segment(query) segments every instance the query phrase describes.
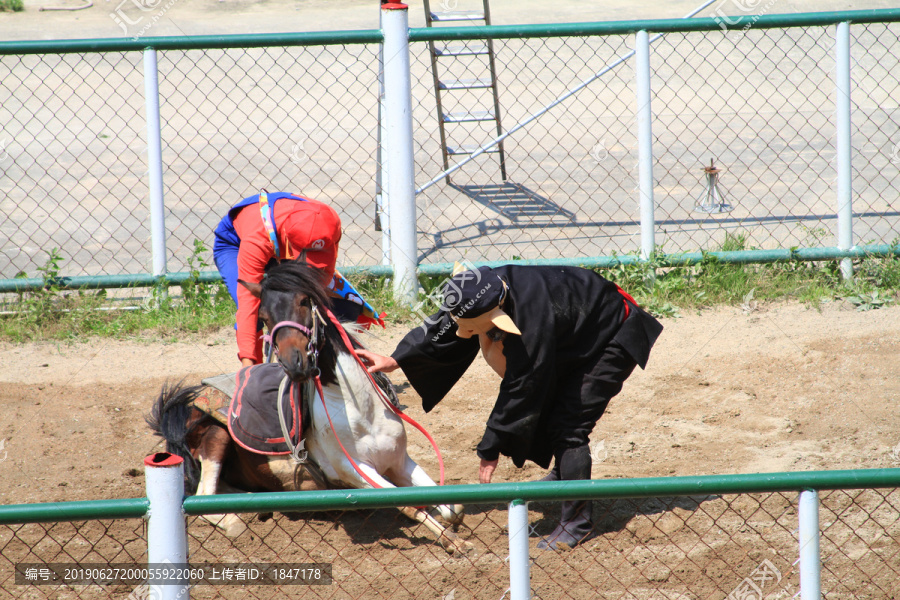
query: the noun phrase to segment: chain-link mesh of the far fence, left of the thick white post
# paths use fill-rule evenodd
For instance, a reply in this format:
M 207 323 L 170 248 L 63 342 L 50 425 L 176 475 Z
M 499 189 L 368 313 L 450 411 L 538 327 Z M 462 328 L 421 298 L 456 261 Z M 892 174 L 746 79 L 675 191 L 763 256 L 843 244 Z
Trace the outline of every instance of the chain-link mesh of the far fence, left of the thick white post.
M 211 250 L 219 219 L 261 187 L 335 203 L 342 259 L 369 260 L 377 47 L 159 56 L 170 270 L 194 239 Z M 54 247 L 65 275 L 149 272 L 141 54 L 5 56 L 0 69 L 0 277 L 33 276 Z

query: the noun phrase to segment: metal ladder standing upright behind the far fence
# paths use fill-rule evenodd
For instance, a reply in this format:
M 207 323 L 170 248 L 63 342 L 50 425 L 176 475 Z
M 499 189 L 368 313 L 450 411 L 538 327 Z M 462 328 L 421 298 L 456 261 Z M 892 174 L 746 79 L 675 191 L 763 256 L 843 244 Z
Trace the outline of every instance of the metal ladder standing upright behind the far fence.
M 457 10 L 458 1 L 441 0 L 439 6 L 442 10 L 432 12 L 429 0 L 424 0 L 426 25 L 434 27 L 435 24 L 459 24 L 460 22 L 473 25 L 491 24 L 488 0 L 482 0 L 481 10 Z M 472 123 L 494 121 L 497 135 L 503 134 L 503 128 L 500 125 L 500 99 L 497 93 L 494 46 L 492 40 L 484 40 L 484 42 L 466 40 L 462 45 L 452 45 L 452 43 L 448 42 L 429 42 L 428 46 L 431 54 L 434 97 L 437 103 L 437 117 L 441 132 L 441 153 L 443 155 L 444 170 L 446 171 L 450 168 L 449 158 L 451 156 L 472 154 L 486 141 L 478 139 L 478 137 L 482 136 L 476 136 L 477 131 L 472 131 Z M 461 65 L 465 71 L 478 70 L 479 68 L 481 71 L 484 71 L 486 69 L 488 76 L 461 79 L 453 79 L 449 76 L 441 77 L 440 72 L 451 70 L 450 61 L 465 61 L 465 64 Z M 459 71 L 460 69 L 456 70 Z M 479 92 L 479 90 L 483 91 Z M 488 90 L 490 94 L 487 93 Z M 465 94 L 465 96 L 461 97 L 460 93 Z M 446 100 L 450 99 L 449 96 L 457 96 L 450 102 L 454 107 L 462 104 L 463 98 L 473 104 L 478 104 L 455 112 L 445 112 L 444 106 L 448 104 Z M 466 124 L 469 124 L 468 129 L 465 128 Z M 448 144 L 448 129 L 459 130 L 460 126 L 462 126 L 462 133 L 453 135 L 451 138 L 453 140 L 452 143 Z M 498 156 L 500 160 L 500 176 L 506 181 L 506 154 L 503 150 L 503 142 L 487 150 L 485 154 L 496 154 Z M 451 183 L 449 175 L 445 179 L 447 184 Z

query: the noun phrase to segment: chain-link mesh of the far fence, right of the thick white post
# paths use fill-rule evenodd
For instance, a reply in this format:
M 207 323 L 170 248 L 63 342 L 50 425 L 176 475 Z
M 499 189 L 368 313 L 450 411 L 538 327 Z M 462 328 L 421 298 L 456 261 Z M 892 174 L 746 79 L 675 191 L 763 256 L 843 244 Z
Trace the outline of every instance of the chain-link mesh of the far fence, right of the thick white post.
M 900 28 L 851 26 L 853 211 L 856 240 L 900 235 Z M 509 129 L 615 64 L 634 36 L 494 41 Z M 798 27 L 665 34 L 651 44 L 656 243 L 668 252 L 715 250 L 730 232 L 749 247 L 836 245 L 835 29 Z M 425 71 L 427 53 L 416 51 Z M 472 62 L 459 77 L 485 76 Z M 418 80 L 417 158 L 440 173 L 429 81 Z M 462 108 L 478 101 L 463 96 Z M 446 97 L 446 95 L 445 95 Z M 509 179 L 484 154 L 419 199 L 428 261 L 610 256 L 640 248 L 633 59 L 505 140 Z M 480 103 L 483 105 L 484 100 Z M 460 135 L 477 145 L 489 126 Z M 417 138 L 418 140 L 418 138 Z M 463 140 L 459 140 L 462 142 Z M 704 167 L 723 172 L 732 210 L 697 210 Z

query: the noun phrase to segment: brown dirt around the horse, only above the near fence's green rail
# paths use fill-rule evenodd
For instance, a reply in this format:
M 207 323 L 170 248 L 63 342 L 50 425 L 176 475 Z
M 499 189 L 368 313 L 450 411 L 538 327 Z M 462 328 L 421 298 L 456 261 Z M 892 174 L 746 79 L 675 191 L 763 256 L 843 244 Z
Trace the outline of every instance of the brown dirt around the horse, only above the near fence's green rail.
M 595 478 L 900 465 L 900 307 L 791 303 L 664 323 L 647 370 L 592 435 Z M 404 332 L 367 341 L 387 352 Z M 5 344 L 0 356 L 2 504 L 142 496 L 132 472 L 159 449 L 143 417 L 162 383 L 237 367 L 227 329 L 172 343 Z M 402 375 L 393 379 L 439 442 L 448 482 L 477 481 L 473 449 L 496 375 L 479 359 L 428 415 Z M 411 433 L 410 444 L 413 458 L 434 464 L 423 438 Z M 501 461 L 496 481 L 539 474 Z

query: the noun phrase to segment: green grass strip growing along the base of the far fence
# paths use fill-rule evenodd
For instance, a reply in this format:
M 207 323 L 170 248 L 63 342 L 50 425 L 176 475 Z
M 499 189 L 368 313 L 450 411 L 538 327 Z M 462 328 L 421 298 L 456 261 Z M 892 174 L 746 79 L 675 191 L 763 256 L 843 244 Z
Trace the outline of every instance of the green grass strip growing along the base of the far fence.
M 746 235 L 730 234 L 719 249 L 746 250 L 746 243 Z M 200 281 L 200 273 L 210 267 L 203 259 L 206 252 L 202 242 L 194 242 L 188 259 L 191 277 L 181 286 L 180 296 L 158 289 L 131 290 L 127 294 L 131 298 L 141 293 L 147 297 L 123 301 L 111 298 L 105 290 L 61 290 L 58 280 L 63 258 L 53 249 L 38 268 L 41 289 L 18 294 L 4 306 L 0 339 L 76 341 L 101 336 L 170 340 L 230 326 L 235 307 L 224 284 Z M 661 253 L 634 265 L 598 269 L 652 314 L 662 317 L 722 305 L 747 309 L 783 299 L 816 308 L 824 301 L 840 299 L 860 310 L 873 310 L 900 299 L 900 259 L 865 258 L 854 261 L 854 271 L 853 280 L 847 283 L 841 277 L 839 261 L 744 265 L 723 263 L 711 254 L 705 254 L 699 264 L 673 267 Z M 372 306 L 387 313 L 389 322 L 415 326 L 437 311 L 445 277 L 420 277 L 422 293 L 415 307 L 397 301 L 389 278 L 357 275 L 350 279 Z

